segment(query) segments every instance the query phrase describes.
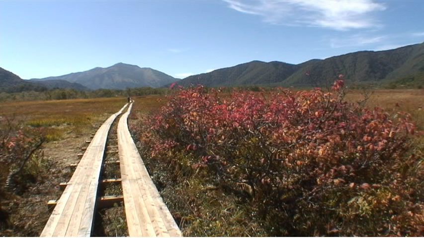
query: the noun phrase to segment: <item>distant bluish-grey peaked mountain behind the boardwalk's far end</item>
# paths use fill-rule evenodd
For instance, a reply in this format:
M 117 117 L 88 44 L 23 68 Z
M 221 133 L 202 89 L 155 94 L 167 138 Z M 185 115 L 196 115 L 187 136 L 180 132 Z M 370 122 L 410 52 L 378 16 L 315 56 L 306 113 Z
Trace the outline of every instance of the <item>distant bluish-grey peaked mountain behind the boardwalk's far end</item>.
M 66 80 L 79 83 L 89 89 L 125 89 L 136 87 L 157 88 L 177 79 L 152 68 L 117 63 L 110 67 L 96 67 L 87 71 L 70 73 L 57 77 L 34 78 L 31 81 Z

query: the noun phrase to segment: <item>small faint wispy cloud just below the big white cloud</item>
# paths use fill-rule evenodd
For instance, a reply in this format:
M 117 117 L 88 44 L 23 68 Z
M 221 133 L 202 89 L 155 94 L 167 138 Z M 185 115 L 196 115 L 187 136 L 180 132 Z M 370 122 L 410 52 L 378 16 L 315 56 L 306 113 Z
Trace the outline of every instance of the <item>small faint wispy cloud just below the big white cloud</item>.
M 385 39 L 387 39 L 387 36 L 365 36 L 357 34 L 343 38 L 332 38 L 330 39 L 330 46 L 331 48 L 357 47 L 380 43 Z

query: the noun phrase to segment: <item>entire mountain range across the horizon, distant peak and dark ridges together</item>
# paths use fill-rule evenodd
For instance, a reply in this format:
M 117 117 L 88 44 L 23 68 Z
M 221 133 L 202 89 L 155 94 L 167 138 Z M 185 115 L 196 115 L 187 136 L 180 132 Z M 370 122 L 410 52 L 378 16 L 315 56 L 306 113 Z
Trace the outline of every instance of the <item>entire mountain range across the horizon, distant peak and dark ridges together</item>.
M 346 84 L 399 84 L 424 86 L 424 43 L 386 51 L 360 51 L 325 60 L 308 60 L 299 64 L 280 61 L 251 61 L 216 69 L 209 73 L 177 79 L 152 68 L 117 63 L 57 77 L 22 80 L 0 68 L 0 91 L 44 91 L 49 88 L 125 89 L 166 87 L 172 82 L 188 86 L 294 86 L 328 85 L 344 75 Z M 34 84 L 35 83 L 35 84 Z

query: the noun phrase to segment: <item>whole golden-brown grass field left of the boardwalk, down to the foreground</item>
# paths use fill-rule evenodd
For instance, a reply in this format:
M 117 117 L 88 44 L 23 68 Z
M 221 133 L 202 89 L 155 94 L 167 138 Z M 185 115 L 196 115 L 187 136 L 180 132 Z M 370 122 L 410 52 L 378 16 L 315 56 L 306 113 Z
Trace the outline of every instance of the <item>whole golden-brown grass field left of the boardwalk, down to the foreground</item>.
M 8 169 L 0 169 L 0 236 L 41 234 L 51 213 L 46 202 L 58 199 L 58 184 L 72 176 L 73 169 L 68 165 L 78 162 L 77 154 L 85 147 L 85 140 L 125 103 L 126 98 L 103 98 L 0 104 L 1 123 L 8 119 L 22 126 L 42 128 L 47 137 L 43 158 L 27 163 L 39 170 L 38 177 L 21 194 L 4 192 Z

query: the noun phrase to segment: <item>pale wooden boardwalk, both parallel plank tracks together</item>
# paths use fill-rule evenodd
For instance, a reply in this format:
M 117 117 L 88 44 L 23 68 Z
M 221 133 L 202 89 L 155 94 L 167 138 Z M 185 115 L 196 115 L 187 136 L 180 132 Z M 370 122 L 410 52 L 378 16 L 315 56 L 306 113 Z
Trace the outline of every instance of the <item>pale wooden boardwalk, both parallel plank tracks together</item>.
M 150 178 L 128 130 L 132 103 L 110 116 L 97 130 L 47 221 L 41 237 L 89 237 L 98 202 L 98 186 L 107 136 L 118 123 L 118 148 L 128 232 L 131 237 L 180 237 L 181 232 Z

